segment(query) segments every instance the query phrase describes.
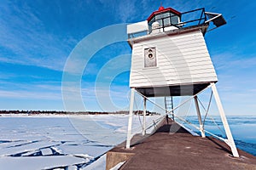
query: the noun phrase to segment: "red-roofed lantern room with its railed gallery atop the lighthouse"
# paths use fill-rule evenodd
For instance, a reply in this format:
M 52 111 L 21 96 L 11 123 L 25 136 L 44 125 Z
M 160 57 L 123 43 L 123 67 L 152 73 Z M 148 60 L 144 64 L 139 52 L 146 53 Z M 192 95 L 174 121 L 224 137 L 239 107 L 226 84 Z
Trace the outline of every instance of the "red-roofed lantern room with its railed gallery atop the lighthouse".
M 212 23 L 212 24 L 211 24 Z M 203 35 L 226 24 L 222 14 L 206 12 L 205 8 L 197 8 L 180 13 L 174 8 L 160 6 L 147 20 L 127 26 L 130 45 L 133 37 L 159 34 L 168 31 L 183 31 L 198 27 Z

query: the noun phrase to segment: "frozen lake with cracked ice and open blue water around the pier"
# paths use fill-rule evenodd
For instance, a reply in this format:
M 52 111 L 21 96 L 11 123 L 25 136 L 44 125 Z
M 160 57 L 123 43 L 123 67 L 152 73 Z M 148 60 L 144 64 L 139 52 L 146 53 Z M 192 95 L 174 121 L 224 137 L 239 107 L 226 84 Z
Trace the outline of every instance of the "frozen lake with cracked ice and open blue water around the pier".
M 187 118 L 196 123 L 195 116 Z M 152 122 L 156 116 L 147 119 Z M 255 156 L 256 116 L 229 116 L 228 120 L 237 146 Z M 0 167 L 104 169 L 103 154 L 125 140 L 127 121 L 125 115 L 0 116 Z M 141 122 L 142 117 L 134 116 L 133 133 L 141 130 Z M 221 124 L 218 119 L 217 123 Z M 206 127 L 223 135 L 210 122 Z

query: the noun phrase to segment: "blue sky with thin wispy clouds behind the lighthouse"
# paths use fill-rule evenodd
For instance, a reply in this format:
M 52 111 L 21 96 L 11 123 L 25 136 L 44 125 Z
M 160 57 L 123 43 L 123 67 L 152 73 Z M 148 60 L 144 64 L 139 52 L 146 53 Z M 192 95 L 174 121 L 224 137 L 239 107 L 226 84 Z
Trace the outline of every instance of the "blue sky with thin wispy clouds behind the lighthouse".
M 146 20 L 160 2 L 180 12 L 204 7 L 224 15 L 228 24 L 205 37 L 218 74 L 218 91 L 228 115 L 255 114 L 256 2 L 237 0 L 1 0 L 0 110 L 67 109 L 62 101 L 61 81 L 67 59 L 79 42 L 105 26 Z M 114 42 L 91 56 L 80 80 L 87 111 L 122 110 L 128 106 L 130 59 L 131 49 L 126 42 Z M 102 74 L 108 67 L 119 73 L 110 77 L 110 88 L 103 81 L 107 75 Z M 107 99 L 115 109 L 108 108 Z

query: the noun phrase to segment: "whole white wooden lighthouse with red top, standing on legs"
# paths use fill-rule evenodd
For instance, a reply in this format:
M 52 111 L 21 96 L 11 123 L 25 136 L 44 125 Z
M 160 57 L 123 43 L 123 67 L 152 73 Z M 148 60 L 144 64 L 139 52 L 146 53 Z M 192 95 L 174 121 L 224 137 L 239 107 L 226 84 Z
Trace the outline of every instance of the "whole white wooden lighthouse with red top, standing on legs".
M 198 17 L 189 18 L 189 14 Z M 127 26 L 132 58 L 126 148 L 131 145 L 135 92 L 144 98 L 144 115 L 150 97 L 191 96 L 195 100 L 201 136 L 205 137 L 197 95 L 212 88 L 227 135 L 224 141 L 230 145 L 233 156 L 239 156 L 215 86 L 218 78 L 204 39 L 207 31 L 225 23 L 221 14 L 205 12 L 204 8 L 180 13 L 173 8 L 160 7 L 148 20 Z

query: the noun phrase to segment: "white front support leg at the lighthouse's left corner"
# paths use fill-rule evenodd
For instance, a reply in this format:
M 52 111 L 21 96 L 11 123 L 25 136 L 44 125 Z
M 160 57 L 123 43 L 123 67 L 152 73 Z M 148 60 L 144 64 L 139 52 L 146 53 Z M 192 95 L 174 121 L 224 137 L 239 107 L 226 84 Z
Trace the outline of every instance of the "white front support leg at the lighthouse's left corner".
M 131 88 L 130 111 L 129 111 L 129 122 L 128 122 L 128 130 L 127 130 L 127 139 L 126 139 L 126 149 L 129 149 L 130 145 L 131 145 L 131 125 L 132 125 L 132 112 L 133 112 L 133 103 L 134 103 L 134 93 L 135 93 L 135 88 Z

